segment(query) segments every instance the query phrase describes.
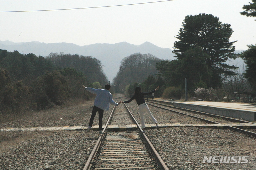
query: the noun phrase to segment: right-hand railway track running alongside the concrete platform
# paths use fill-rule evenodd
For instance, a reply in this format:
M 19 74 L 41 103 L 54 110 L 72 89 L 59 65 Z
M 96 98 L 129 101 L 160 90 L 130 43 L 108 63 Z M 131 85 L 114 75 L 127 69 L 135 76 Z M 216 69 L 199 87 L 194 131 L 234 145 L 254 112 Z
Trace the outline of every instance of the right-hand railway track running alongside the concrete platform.
M 147 103 L 151 106 L 154 106 L 154 107 L 158 107 L 158 108 L 165 109 L 165 110 L 168 110 L 168 111 L 172 111 L 172 112 L 180 113 L 180 114 L 187 115 L 187 116 L 190 116 L 190 117 L 193 117 L 193 118 L 197 118 L 197 119 L 200 119 L 200 120 L 204 120 L 208 123 L 222 124 L 222 123 L 232 122 L 232 123 L 251 123 L 251 124 L 256 125 L 256 123 L 252 123 L 252 122 L 245 121 L 245 120 L 234 119 L 234 118 L 224 117 L 224 116 L 210 114 L 210 113 L 192 111 L 190 109 L 178 108 L 178 107 L 170 106 L 170 105 L 167 105 L 167 104 L 162 104 L 162 103 L 159 103 L 159 102 L 148 101 Z M 153 104 L 150 104 L 150 103 L 153 103 Z M 235 131 L 241 131 L 241 132 L 244 132 L 246 134 L 249 134 L 249 135 L 252 135 L 252 136 L 256 137 L 256 130 L 255 129 L 246 129 L 245 130 L 245 129 L 240 129 L 240 128 L 236 128 L 236 127 L 233 127 L 233 126 L 226 126 L 226 127 L 229 128 L 229 129 L 232 129 L 232 130 L 235 130 Z

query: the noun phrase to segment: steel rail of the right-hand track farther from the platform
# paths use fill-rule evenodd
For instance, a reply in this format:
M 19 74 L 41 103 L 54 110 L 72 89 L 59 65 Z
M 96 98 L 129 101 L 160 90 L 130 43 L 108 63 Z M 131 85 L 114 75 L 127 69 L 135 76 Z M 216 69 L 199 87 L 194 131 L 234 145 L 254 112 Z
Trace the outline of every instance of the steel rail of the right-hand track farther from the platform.
M 149 104 L 149 103 L 148 103 Z M 158 103 L 157 103 L 158 104 Z M 165 110 L 168 110 L 168 111 L 172 111 L 172 112 L 176 112 L 176 113 L 180 113 L 180 114 L 183 114 L 183 115 L 188 115 L 188 116 L 191 116 L 191 117 L 194 117 L 194 118 L 198 118 L 198 119 L 201 119 L 201 120 L 205 120 L 205 121 L 209 121 L 209 122 L 214 122 L 214 121 L 210 121 L 210 120 L 207 120 L 207 119 L 203 119 L 203 118 L 199 118 L 199 117 L 196 117 L 196 116 L 193 116 L 193 115 L 190 115 L 190 114 L 186 114 L 186 113 L 181 113 L 181 112 L 177 112 L 177 111 L 173 111 L 171 109 L 167 109 L 167 108 L 163 108 L 163 107 L 160 107 L 160 106 L 155 106 L 154 104 L 149 104 L 151 106 L 154 106 L 154 107 L 158 107 L 158 108 L 161 108 L 161 109 L 165 109 Z M 180 109 L 180 108 L 177 108 L 177 109 Z M 183 108 L 181 110 L 184 110 Z M 193 111 L 193 112 L 197 112 L 197 111 Z M 203 113 L 203 112 L 202 112 Z M 251 122 L 247 122 L 247 123 L 251 123 Z M 223 125 L 221 123 L 217 123 L 217 122 L 214 122 L 214 124 L 220 124 L 220 125 Z M 254 123 L 253 123 L 254 124 Z M 235 130 L 235 131 L 240 131 L 240 132 L 244 132 L 246 134 L 249 134 L 249 135 L 252 135 L 254 137 L 256 137 L 256 133 L 254 132 L 250 132 L 250 131 L 247 131 L 247 130 L 244 130 L 244 129 L 239 129 L 239 128 L 235 128 L 233 126 L 225 126 L 229 129 L 232 129 L 232 130 Z

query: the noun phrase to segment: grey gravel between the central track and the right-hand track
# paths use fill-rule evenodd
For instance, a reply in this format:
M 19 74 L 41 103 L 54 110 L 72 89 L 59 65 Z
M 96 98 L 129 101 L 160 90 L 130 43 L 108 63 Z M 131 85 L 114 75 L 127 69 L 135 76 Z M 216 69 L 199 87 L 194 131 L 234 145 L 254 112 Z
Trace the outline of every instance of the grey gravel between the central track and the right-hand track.
M 135 101 L 127 104 L 134 117 L 140 122 L 138 105 Z M 176 114 L 149 106 L 159 123 L 203 124 L 202 120 Z M 144 115 L 145 123 L 151 119 Z M 146 130 L 146 135 L 171 170 L 255 170 L 256 138 L 229 129 L 172 127 L 160 130 Z M 203 163 L 204 157 L 230 157 L 229 163 Z M 244 157 L 248 163 L 239 157 Z M 231 160 L 231 157 L 235 157 Z M 236 162 L 237 163 L 231 163 Z

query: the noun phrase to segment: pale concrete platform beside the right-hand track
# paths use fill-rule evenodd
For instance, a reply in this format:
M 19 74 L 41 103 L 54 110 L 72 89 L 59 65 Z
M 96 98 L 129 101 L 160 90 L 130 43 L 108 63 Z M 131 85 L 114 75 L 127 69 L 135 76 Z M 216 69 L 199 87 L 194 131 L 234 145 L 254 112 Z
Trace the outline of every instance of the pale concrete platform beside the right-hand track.
M 225 117 L 239 118 L 247 121 L 256 121 L 255 104 L 196 101 L 172 102 L 172 105 L 175 107 L 222 115 Z

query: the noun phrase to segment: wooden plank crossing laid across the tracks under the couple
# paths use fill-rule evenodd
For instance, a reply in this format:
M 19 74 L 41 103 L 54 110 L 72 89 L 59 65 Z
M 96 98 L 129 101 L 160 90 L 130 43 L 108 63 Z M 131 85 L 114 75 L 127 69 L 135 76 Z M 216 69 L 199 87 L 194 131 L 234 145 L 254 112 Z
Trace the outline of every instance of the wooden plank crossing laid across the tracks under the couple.
M 165 124 L 158 124 L 159 128 L 168 128 L 168 127 L 179 127 L 179 126 L 190 126 L 190 127 L 208 127 L 208 128 L 223 128 L 225 126 L 233 126 L 236 128 L 243 128 L 243 129 L 256 129 L 256 124 L 253 123 L 223 123 L 223 124 L 180 124 L 180 123 L 165 123 Z M 146 129 L 155 129 L 156 125 L 155 124 L 145 124 Z M 11 131 L 53 131 L 53 130 L 86 130 L 88 126 L 55 126 L 55 127 L 33 127 L 33 128 L 2 128 L 0 131 L 5 131 L 5 132 L 11 132 Z M 92 126 L 92 130 L 97 131 L 99 128 L 98 125 Z M 105 128 L 103 125 L 102 128 Z M 131 131 L 131 130 L 137 130 L 137 126 L 132 124 L 132 125 L 108 125 L 107 129 L 109 131 Z

